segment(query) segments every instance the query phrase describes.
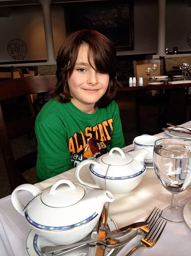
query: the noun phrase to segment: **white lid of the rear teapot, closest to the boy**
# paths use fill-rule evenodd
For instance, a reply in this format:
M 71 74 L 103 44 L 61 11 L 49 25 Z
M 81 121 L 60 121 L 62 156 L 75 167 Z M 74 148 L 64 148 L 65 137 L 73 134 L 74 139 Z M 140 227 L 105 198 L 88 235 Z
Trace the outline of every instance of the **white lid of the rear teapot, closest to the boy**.
M 113 152 L 115 151 L 115 152 Z M 117 152 L 118 151 L 118 152 Z M 124 154 L 120 148 L 113 148 L 109 153 L 102 156 L 102 162 L 111 165 L 125 165 L 133 161 L 133 156 L 130 154 Z

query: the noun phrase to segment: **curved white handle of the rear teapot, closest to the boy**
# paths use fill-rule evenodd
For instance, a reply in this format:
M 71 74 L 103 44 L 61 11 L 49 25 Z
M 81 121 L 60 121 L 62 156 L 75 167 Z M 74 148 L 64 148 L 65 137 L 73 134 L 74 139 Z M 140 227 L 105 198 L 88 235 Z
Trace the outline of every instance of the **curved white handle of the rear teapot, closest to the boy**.
M 84 160 L 82 162 L 80 162 L 77 167 L 76 167 L 76 179 L 84 185 L 87 185 L 89 187 L 93 187 L 93 188 L 100 188 L 100 186 L 98 185 L 98 183 L 89 183 L 89 182 L 85 182 L 83 180 L 81 180 L 79 172 L 81 170 L 81 168 L 86 165 L 86 164 L 93 164 L 95 167 L 100 167 L 100 164 L 92 159 L 89 160 Z

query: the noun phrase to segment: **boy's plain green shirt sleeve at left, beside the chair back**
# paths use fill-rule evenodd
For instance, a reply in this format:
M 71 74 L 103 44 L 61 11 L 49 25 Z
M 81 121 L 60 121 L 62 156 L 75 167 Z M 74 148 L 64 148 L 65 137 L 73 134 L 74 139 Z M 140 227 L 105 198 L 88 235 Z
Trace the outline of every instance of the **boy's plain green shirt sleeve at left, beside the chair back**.
M 60 129 L 40 121 L 35 124 L 35 133 L 38 142 L 37 182 L 73 168 L 64 126 Z

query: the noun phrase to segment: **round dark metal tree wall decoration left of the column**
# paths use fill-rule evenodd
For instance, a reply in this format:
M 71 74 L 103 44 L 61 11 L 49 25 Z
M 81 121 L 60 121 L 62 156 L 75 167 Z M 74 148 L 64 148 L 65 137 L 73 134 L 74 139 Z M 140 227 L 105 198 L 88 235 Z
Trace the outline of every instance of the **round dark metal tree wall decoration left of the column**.
M 14 61 L 23 60 L 27 54 L 27 47 L 21 39 L 15 38 L 8 43 L 7 51 Z

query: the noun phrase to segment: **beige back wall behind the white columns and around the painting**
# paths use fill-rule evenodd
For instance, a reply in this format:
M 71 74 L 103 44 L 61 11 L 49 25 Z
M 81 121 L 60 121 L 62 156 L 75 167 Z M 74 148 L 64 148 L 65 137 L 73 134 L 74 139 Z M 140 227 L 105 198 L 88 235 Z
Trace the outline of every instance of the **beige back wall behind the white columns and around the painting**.
M 158 1 L 134 0 L 134 50 L 118 55 L 157 52 Z M 2 7 L 0 7 L 2 8 Z M 55 56 L 66 38 L 64 5 L 51 5 Z M 182 0 L 167 0 L 166 46 L 172 51 L 190 51 L 187 35 L 191 31 L 191 7 Z M 0 62 L 13 61 L 7 53 L 7 44 L 13 38 L 23 40 L 28 48 L 24 60 L 46 60 L 46 43 L 41 5 L 17 6 L 9 17 L 0 17 Z

